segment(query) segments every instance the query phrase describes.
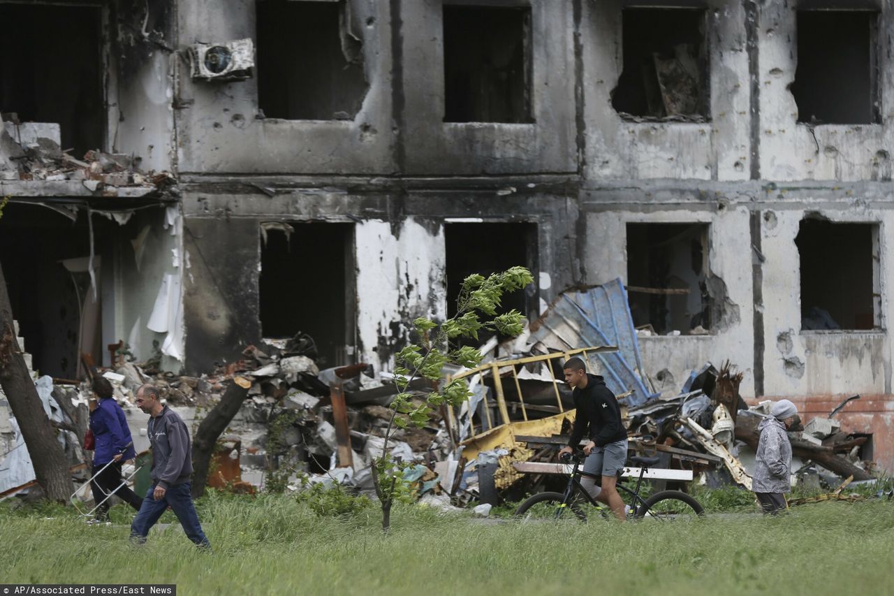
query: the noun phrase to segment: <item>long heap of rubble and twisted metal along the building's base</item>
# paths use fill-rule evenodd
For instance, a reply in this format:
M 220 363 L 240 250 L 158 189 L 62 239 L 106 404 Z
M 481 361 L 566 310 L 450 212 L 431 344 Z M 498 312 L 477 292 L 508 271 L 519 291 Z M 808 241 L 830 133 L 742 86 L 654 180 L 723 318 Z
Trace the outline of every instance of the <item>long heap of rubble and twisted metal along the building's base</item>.
M 157 370 L 153 361 L 142 366 L 115 362 L 100 374 L 113 382 L 135 442 L 138 434 L 145 435 L 139 432 L 145 415 L 134 399 L 144 383 L 155 385 L 167 404 L 179 408 L 193 433 L 229 387 L 246 390 L 239 413 L 218 440 L 209 486 L 254 490 L 250 483 L 262 490 L 301 490 L 308 482 L 337 481 L 372 493 L 370 466 L 391 433 L 389 451 L 408 465 L 405 475 L 417 483 L 418 496 L 446 508 L 518 500 L 558 478 L 555 474 L 562 471 L 556 452 L 567 444 L 575 414 L 562 364 L 580 355 L 619 397 L 630 456 L 657 455 L 657 468 L 691 471 L 689 478 L 701 476 L 711 486 L 736 483 L 750 490 L 757 424 L 770 413 L 772 402 L 746 404 L 738 392 L 743 375 L 729 362 L 720 370 L 710 362 L 694 370 L 677 395 L 655 392 L 643 374 L 623 292 L 616 280 L 562 294 L 519 337 L 502 344 L 496 337 L 488 340 L 479 349 L 480 366 L 448 371 L 448 380 L 468 383 L 468 402 L 453 412 L 443 408 L 434 413 L 421 429 L 392 426 L 388 405 L 398 390 L 391 374 L 376 377 L 363 363 L 319 370 L 314 340 L 300 333 L 249 345 L 240 359 L 200 377 Z M 599 316 L 586 319 L 587 311 Z M 430 390 L 425 379 L 408 389 L 419 404 Z M 74 389 L 57 385 L 53 396 L 74 420 L 78 416 L 72 408 L 82 406 L 86 412 L 89 384 Z M 790 429 L 799 481 L 832 490 L 844 479 L 873 479 L 873 463 L 860 457 L 867 437 L 842 432 L 835 418 L 858 398 L 849 397 L 828 418 L 805 425 L 797 421 Z M 52 410 L 53 403 L 47 403 Z M 82 427 L 85 418 L 80 419 Z M 77 439 L 66 447 L 75 461 L 80 435 Z M 139 440 L 147 445 L 145 436 Z M 681 480 L 679 474 L 666 474 L 659 482 L 665 481 Z

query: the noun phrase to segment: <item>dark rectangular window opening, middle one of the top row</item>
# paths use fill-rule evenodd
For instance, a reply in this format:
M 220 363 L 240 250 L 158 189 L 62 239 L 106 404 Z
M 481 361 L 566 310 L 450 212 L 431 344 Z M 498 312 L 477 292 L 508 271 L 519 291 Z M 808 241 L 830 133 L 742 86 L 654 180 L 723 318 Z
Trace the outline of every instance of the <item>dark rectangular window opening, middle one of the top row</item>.
M 530 123 L 529 7 L 443 7 L 444 122 Z

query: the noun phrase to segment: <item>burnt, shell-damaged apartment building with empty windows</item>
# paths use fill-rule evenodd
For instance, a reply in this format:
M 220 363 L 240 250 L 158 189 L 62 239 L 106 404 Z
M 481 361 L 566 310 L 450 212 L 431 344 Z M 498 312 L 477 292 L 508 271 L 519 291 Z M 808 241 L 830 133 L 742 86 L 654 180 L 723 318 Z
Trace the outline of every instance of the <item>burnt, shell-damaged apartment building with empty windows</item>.
M 389 370 L 463 277 L 525 265 L 531 320 L 625 280 L 655 387 L 729 359 L 742 396 L 805 420 L 861 394 L 842 429 L 894 469 L 889 1 L 38 0 L 0 20 L 0 263 L 34 369 L 126 352 L 198 374 L 300 331 L 320 368 Z

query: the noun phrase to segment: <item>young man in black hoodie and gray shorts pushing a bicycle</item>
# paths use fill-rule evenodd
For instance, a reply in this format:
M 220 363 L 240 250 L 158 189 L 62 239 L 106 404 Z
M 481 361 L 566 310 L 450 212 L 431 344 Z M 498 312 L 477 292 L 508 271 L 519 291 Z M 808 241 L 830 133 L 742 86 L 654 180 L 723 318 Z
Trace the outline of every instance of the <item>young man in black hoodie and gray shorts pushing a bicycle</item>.
M 618 472 L 627 462 L 627 430 L 620 420 L 618 400 L 605 386 L 605 379 L 588 374 L 586 364 L 577 356 L 569 358 L 562 368 L 565 382 L 574 388 L 571 396 L 578 412 L 568 446 L 561 448 L 559 456 L 572 453 L 586 433 L 590 440 L 584 447 L 584 473 L 592 475 L 585 476 L 580 484 L 591 497 L 611 507 L 614 515 L 624 520 L 624 501 L 615 485 Z M 603 477 L 602 490 L 595 485 L 597 474 Z

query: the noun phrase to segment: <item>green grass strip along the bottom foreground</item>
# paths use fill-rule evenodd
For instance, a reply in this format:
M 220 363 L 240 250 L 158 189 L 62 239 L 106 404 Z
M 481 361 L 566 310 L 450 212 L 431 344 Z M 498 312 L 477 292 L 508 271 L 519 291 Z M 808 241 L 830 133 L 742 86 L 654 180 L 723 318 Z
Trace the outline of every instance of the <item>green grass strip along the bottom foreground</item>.
M 295 498 L 212 495 L 199 515 L 213 554 L 176 525 L 138 548 L 126 525 L 4 504 L 3 581 L 176 583 L 179 594 L 815 596 L 891 593 L 894 564 L 894 503 L 877 499 L 681 524 L 488 523 L 397 506 L 388 536 L 375 506 L 321 517 Z

